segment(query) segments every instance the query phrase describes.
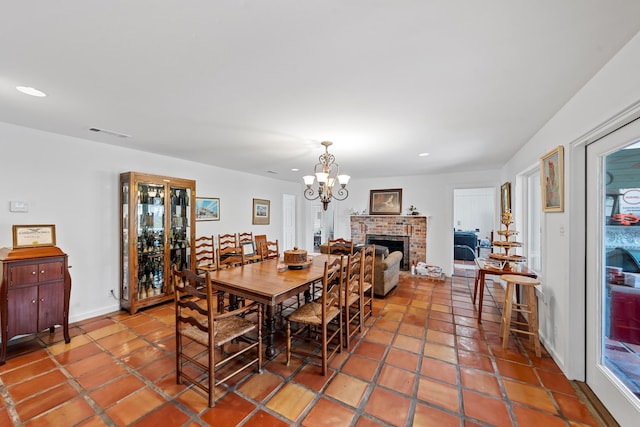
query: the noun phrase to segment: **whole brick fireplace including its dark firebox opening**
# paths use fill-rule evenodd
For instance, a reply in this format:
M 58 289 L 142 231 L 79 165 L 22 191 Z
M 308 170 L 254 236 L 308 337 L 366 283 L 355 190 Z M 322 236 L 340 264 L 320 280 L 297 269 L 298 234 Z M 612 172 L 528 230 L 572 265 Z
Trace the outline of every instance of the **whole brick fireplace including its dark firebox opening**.
M 427 259 L 427 217 L 412 215 L 352 215 L 351 240 L 354 244 L 375 243 L 403 253 L 403 270 L 411 262 Z

